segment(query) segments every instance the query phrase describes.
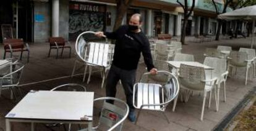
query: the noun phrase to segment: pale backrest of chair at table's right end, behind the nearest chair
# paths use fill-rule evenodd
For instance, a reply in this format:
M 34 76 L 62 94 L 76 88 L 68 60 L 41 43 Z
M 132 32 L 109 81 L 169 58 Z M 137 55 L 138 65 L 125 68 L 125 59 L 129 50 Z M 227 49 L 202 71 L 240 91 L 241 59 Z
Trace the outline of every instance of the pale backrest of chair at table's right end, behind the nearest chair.
M 226 60 L 224 58 L 205 57 L 203 65 L 207 65 L 213 68 L 208 72 L 207 70 L 205 71 L 205 74 L 210 76 L 209 78 L 221 77 L 221 74 L 226 71 Z

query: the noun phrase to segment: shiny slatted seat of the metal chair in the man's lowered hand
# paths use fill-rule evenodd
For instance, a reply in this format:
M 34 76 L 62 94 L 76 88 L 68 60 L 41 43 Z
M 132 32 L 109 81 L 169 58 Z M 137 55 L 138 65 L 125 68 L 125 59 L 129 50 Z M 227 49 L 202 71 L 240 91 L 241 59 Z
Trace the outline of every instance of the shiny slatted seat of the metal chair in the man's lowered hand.
M 159 104 L 160 103 L 160 84 L 139 83 L 137 90 L 137 108 L 143 104 Z M 161 110 L 160 106 L 143 106 L 142 109 Z

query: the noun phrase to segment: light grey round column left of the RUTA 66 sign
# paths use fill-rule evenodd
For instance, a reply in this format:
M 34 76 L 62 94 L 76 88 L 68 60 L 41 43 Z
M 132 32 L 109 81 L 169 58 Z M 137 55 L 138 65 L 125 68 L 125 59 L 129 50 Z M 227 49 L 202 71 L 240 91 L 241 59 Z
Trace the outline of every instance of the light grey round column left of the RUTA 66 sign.
M 51 36 L 59 36 L 59 0 L 53 0 L 52 18 L 51 18 Z

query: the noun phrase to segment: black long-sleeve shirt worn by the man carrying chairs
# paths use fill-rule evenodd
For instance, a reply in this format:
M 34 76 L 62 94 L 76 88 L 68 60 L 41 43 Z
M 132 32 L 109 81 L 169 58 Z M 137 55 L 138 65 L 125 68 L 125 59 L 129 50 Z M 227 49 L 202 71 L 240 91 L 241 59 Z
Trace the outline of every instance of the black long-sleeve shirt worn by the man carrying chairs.
M 142 31 L 134 33 L 128 30 L 127 25 L 123 25 L 112 33 L 105 32 L 104 34 L 109 39 L 116 39 L 114 66 L 126 70 L 137 69 L 140 53 L 142 52 L 148 71 L 154 68 L 150 44 Z

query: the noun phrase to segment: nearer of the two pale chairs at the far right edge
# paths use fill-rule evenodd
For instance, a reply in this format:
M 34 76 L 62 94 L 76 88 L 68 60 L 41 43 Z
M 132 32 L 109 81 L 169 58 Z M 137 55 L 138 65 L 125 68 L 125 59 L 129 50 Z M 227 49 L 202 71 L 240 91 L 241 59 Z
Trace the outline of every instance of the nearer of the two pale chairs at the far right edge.
M 247 76 L 248 76 L 248 70 L 252 68 L 252 62 L 254 61 L 248 59 L 248 55 L 246 52 L 237 52 L 237 51 L 231 51 L 229 55 L 229 69 L 231 69 L 230 73 L 232 74 L 233 68 L 241 68 L 246 67 L 246 73 L 245 73 L 245 85 L 247 85 Z M 253 76 L 251 69 L 251 77 Z

